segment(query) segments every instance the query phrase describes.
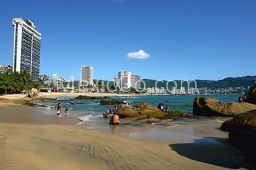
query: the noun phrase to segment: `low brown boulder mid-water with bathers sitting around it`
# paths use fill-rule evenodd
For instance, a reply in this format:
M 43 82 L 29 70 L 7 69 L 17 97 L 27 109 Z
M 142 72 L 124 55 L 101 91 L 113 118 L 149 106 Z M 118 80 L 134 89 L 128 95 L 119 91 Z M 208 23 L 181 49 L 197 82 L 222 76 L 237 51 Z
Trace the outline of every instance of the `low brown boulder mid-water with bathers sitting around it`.
M 165 117 L 166 114 L 158 109 L 154 105 L 149 105 L 147 103 L 140 103 L 138 106 L 131 105 L 118 105 L 116 113 L 120 117 Z

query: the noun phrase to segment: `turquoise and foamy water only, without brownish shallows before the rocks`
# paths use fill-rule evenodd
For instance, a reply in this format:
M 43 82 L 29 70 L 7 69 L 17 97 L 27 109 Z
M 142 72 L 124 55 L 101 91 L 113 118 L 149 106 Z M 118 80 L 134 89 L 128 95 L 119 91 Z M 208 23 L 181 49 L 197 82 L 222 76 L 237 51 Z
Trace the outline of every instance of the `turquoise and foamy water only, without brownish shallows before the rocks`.
M 168 105 L 170 109 L 178 109 L 186 113 L 192 113 L 192 105 L 195 97 L 214 97 L 219 101 L 231 102 L 237 101 L 239 94 L 230 95 L 189 95 L 189 96 L 132 96 L 132 97 L 112 97 L 121 101 L 130 102 L 131 105 L 138 105 L 146 102 L 157 106 L 159 103 Z M 47 114 L 56 114 L 54 106 L 61 102 L 63 108 L 66 103 L 69 107 L 70 117 L 84 117 L 85 121 L 98 121 L 102 119 L 102 113 L 107 108 L 114 109 L 114 105 L 100 105 L 100 100 L 75 100 L 74 97 L 60 97 L 58 101 L 38 101 L 42 105 L 46 105 Z M 64 114 L 64 109 L 62 111 Z

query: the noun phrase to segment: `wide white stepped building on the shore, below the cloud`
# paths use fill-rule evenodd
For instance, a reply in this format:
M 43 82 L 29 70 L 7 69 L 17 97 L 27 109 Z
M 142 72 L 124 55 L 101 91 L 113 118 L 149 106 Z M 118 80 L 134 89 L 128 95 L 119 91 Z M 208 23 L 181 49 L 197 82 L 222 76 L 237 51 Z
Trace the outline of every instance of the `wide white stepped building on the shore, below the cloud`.
M 118 77 L 115 78 L 116 85 L 120 89 L 129 89 L 133 87 L 135 89 L 141 88 L 141 77 L 139 75 L 132 74 L 131 72 L 120 71 Z

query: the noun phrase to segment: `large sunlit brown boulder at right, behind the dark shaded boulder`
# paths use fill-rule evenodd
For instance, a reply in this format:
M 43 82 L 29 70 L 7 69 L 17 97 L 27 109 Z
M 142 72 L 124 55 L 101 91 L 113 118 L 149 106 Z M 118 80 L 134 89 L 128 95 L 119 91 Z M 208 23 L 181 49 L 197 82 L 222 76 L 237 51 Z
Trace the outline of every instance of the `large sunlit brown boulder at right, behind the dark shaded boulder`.
M 256 105 L 246 102 L 220 102 L 210 97 L 196 97 L 193 104 L 193 114 L 209 117 L 234 117 L 256 109 Z

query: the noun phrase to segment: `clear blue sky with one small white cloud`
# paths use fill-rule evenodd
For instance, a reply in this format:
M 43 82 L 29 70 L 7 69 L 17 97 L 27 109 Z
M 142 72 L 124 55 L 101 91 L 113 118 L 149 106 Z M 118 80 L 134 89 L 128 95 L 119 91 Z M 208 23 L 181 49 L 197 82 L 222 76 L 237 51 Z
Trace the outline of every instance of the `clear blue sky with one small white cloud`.
M 2 0 L 0 65 L 12 65 L 13 18 L 42 34 L 40 74 L 111 80 L 126 70 L 157 80 L 256 75 L 254 0 Z

